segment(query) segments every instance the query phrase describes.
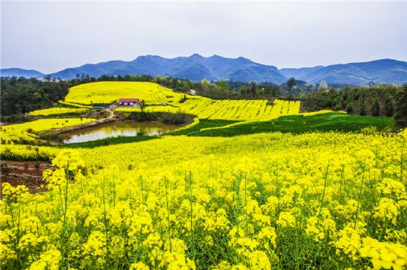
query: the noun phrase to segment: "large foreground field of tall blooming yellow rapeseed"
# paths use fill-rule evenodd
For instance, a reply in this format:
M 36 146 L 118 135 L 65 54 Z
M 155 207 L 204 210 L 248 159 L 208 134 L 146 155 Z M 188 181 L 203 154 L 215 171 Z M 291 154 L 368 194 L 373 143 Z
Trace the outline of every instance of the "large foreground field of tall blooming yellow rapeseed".
M 2 269 L 405 269 L 406 138 L 166 136 L 2 185 Z M 4 149 L 2 149 L 4 152 Z

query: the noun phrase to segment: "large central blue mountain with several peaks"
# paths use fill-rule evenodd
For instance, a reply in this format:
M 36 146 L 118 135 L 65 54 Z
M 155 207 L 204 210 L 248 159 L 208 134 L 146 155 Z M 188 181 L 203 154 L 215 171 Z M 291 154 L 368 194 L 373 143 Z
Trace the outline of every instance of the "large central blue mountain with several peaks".
M 64 80 L 76 78 L 76 74 L 87 74 L 92 77 L 105 75 L 147 74 L 151 76 L 171 76 L 189 80 L 234 80 L 244 82 L 283 83 L 286 77 L 275 66 L 255 63 L 249 59 L 236 59 L 213 55 L 202 57 L 194 54 L 189 57 L 172 59 L 156 55 L 140 56 L 131 62 L 109 61 L 98 64 L 86 64 L 72 69 L 52 73 L 54 78 Z

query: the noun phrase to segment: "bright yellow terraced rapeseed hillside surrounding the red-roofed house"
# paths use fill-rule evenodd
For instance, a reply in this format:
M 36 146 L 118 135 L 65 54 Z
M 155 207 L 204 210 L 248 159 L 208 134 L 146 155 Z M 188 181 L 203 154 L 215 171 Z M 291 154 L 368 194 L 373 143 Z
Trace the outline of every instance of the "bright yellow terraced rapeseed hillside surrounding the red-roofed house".
M 81 104 L 110 104 L 120 98 L 144 100 L 145 112 L 190 113 L 209 120 L 270 120 L 300 112 L 300 101 L 267 100 L 213 100 L 206 97 L 173 92 L 156 83 L 98 82 L 72 87 L 66 101 Z M 163 106 L 163 104 L 165 104 Z M 116 112 L 140 111 L 140 108 L 118 108 Z

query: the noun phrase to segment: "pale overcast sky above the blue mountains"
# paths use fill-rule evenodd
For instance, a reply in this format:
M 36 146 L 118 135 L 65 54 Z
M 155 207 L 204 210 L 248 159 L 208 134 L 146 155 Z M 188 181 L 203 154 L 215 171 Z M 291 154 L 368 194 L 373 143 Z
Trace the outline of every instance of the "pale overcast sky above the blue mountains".
M 1 1 L 1 67 L 195 52 L 279 68 L 407 61 L 406 11 L 407 1 Z

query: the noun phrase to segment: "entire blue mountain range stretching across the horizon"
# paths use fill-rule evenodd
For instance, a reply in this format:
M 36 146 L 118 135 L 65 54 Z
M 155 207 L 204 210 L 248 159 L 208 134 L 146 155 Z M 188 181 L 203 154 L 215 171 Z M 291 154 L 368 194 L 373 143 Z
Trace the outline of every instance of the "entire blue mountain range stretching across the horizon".
M 1 76 L 23 76 L 39 78 L 44 76 L 39 71 L 25 69 L 1 69 Z M 100 77 L 102 75 L 133 75 L 148 74 L 151 76 L 172 76 L 174 78 L 188 78 L 189 80 L 233 80 L 251 82 L 283 83 L 294 77 L 308 83 L 326 81 L 330 84 L 366 85 L 375 83 L 407 83 L 407 62 L 393 59 L 380 59 L 372 62 L 334 64 L 331 66 L 314 66 L 300 69 L 277 69 L 275 66 L 258 64 L 250 59 L 239 57 L 236 59 L 213 55 L 202 57 L 175 57 L 172 59 L 156 55 L 140 56 L 133 61 L 109 61 L 98 64 L 85 64 L 56 73 L 48 74 L 53 78 L 69 80 L 88 75 Z

